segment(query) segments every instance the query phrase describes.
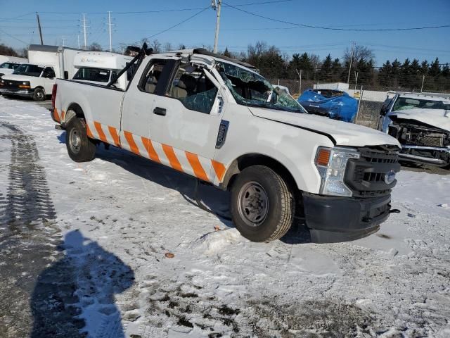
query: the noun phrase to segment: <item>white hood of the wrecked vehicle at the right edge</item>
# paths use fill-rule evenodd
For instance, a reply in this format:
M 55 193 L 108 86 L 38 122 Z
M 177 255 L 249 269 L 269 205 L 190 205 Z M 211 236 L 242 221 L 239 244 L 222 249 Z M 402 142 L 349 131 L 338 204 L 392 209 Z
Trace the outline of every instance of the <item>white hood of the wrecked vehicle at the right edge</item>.
M 450 132 L 450 111 L 444 109 L 406 109 L 404 111 L 391 111 L 388 114 L 388 116 L 392 115 L 397 115 L 397 118 L 404 120 L 416 120 Z

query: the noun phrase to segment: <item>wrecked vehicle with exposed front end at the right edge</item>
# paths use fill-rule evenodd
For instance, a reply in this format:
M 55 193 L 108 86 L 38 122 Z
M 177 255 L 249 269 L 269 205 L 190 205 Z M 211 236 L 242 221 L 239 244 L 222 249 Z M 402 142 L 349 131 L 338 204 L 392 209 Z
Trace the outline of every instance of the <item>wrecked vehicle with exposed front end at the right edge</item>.
M 450 168 L 450 94 L 397 93 L 380 118 L 401 144 L 401 161 Z

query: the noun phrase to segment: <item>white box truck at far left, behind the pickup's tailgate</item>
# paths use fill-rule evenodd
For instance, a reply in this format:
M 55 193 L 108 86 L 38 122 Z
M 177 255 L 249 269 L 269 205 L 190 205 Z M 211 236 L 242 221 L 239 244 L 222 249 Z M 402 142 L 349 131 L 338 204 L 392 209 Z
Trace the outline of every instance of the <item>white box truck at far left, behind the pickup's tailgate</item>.
M 11 75 L 1 77 L 0 93 L 43 101 L 51 94 L 57 77 L 70 79 L 75 75 L 73 61 L 79 51 L 63 46 L 30 45 L 29 63 L 23 63 Z

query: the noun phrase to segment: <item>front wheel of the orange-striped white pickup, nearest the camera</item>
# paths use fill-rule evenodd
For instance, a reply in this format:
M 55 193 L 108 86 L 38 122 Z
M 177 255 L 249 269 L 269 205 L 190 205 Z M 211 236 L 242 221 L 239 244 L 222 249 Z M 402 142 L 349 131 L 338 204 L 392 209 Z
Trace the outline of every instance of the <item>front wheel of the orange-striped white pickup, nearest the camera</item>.
M 293 223 L 295 200 L 285 181 L 268 167 L 245 168 L 231 188 L 231 216 L 236 229 L 252 242 L 283 237 Z

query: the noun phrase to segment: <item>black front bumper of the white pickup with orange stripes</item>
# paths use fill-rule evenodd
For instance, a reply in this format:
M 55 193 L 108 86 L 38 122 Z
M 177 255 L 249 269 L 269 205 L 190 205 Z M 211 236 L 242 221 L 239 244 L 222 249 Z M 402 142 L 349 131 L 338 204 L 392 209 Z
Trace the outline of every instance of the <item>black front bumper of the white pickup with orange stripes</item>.
M 348 242 L 377 232 L 390 215 L 390 201 L 390 194 L 368 199 L 304 194 L 311 241 Z

